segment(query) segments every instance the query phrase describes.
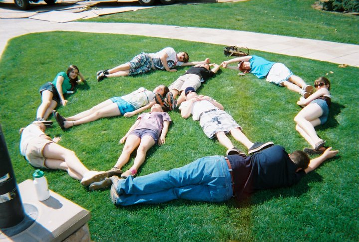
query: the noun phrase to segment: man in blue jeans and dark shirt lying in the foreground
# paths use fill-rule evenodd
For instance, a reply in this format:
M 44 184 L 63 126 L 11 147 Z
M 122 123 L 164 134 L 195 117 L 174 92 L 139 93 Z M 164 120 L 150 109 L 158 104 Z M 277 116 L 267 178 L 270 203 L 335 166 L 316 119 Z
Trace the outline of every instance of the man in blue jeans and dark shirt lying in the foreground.
M 180 168 L 136 178 L 112 176 L 111 199 L 122 206 L 174 199 L 242 200 L 258 190 L 292 186 L 337 153 L 328 148 L 310 160 L 303 151 L 288 154 L 283 147 L 274 145 L 251 156 L 242 153 L 203 157 Z

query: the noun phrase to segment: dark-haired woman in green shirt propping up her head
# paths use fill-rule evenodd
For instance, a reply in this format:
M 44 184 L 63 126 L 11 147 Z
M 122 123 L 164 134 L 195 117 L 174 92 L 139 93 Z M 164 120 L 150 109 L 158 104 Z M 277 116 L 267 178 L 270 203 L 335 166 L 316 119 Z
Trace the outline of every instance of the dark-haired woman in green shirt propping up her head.
M 48 125 L 52 124 L 52 121 L 46 121 L 47 118 L 58 104 L 62 104 L 63 106 L 67 104 L 64 94 L 67 93 L 67 91 L 73 91 L 79 82 L 85 82 L 85 78 L 77 66 L 70 65 L 66 72 L 57 73 L 52 82 L 42 85 L 39 90 L 42 101 L 37 108 L 35 121 Z

